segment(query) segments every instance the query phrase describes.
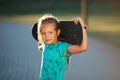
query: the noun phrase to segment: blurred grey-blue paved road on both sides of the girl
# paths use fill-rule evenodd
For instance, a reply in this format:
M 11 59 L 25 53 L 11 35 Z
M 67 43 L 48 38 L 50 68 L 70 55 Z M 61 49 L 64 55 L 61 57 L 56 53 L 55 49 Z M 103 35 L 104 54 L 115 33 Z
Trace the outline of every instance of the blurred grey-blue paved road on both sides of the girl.
M 41 53 L 31 25 L 0 22 L 0 80 L 39 80 Z M 120 50 L 89 38 L 89 49 L 72 57 L 66 80 L 120 80 Z

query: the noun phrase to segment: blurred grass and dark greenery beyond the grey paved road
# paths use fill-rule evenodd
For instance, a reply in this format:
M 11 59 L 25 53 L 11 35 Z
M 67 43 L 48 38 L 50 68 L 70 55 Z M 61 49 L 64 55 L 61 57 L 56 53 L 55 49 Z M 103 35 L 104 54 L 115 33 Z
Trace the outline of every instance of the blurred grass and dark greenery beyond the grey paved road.
M 86 8 L 82 8 L 82 4 L 86 4 Z M 0 0 L 0 21 L 33 24 L 45 13 L 60 20 L 71 20 L 82 16 L 83 9 L 89 34 L 120 46 L 119 7 L 120 0 Z

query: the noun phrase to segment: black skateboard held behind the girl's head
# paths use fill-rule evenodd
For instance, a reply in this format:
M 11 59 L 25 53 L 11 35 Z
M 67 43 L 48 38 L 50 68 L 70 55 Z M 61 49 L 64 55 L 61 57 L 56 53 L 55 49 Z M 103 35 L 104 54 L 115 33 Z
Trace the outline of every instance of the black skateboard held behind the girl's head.
M 32 25 L 32 36 L 38 41 L 37 34 L 38 23 Z M 61 30 L 59 40 L 70 44 L 80 45 L 83 38 L 81 24 L 75 24 L 73 21 L 59 21 L 57 27 Z

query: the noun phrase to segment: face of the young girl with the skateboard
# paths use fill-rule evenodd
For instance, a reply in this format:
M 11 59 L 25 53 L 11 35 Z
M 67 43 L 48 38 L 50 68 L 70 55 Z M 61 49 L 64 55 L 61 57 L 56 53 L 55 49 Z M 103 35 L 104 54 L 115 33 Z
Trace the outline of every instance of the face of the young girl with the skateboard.
M 55 23 L 47 23 L 41 25 L 40 34 L 45 43 L 54 44 L 58 42 L 60 30 L 56 30 L 55 27 Z

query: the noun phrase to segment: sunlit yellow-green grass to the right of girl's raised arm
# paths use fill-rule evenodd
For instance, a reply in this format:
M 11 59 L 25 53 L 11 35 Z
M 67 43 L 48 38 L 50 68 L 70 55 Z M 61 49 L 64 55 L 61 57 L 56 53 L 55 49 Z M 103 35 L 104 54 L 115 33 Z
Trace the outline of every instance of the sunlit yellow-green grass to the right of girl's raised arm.
M 90 16 L 89 35 L 120 47 L 120 16 Z

